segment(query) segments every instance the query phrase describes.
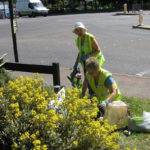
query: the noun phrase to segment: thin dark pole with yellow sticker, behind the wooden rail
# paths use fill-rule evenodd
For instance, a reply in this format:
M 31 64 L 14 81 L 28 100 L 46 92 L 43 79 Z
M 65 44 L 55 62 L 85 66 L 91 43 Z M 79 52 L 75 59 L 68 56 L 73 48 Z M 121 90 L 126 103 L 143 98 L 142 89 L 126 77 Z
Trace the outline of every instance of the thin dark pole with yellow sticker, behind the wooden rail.
M 8 2 L 9 2 L 10 23 L 11 23 L 14 57 L 15 57 L 15 62 L 19 62 L 18 50 L 17 50 L 17 40 L 16 40 L 16 20 L 14 20 L 13 2 L 12 2 L 12 0 L 8 0 Z

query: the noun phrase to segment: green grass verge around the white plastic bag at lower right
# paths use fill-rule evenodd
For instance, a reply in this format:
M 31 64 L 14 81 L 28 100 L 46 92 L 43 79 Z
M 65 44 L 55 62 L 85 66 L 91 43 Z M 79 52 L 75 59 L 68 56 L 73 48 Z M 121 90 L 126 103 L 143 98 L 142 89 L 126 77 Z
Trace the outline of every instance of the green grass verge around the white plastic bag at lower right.
M 149 99 L 123 97 L 123 101 L 130 105 L 129 111 L 134 116 L 142 116 L 143 111 L 150 112 Z M 126 150 L 126 147 L 150 150 L 150 133 L 132 133 L 127 137 L 123 132 L 120 132 L 119 145 L 120 150 Z

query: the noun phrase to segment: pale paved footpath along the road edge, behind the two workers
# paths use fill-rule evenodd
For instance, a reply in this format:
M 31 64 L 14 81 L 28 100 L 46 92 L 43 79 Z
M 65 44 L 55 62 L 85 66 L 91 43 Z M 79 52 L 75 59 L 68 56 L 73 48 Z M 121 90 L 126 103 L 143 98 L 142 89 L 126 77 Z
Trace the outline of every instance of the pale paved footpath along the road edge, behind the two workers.
M 70 81 L 67 79 L 67 76 L 71 73 L 69 68 L 61 68 L 61 85 L 64 85 L 66 88 L 71 88 Z M 13 71 L 14 76 L 23 75 L 33 77 L 32 73 L 17 72 Z M 139 98 L 148 98 L 150 99 L 150 78 L 143 78 L 132 75 L 121 75 L 113 74 L 123 96 L 139 97 Z M 45 79 L 45 83 L 48 85 L 53 84 L 52 75 L 40 74 L 40 77 Z

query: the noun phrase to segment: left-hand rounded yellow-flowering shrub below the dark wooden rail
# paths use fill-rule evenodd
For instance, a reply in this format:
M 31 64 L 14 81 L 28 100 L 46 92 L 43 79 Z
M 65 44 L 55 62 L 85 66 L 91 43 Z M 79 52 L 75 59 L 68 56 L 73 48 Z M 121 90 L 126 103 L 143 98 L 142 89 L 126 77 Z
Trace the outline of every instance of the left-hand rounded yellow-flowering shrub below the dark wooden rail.
M 1 115 L 5 118 L 0 135 L 12 140 L 12 149 L 46 150 L 45 143 L 56 134 L 60 116 L 48 105 L 56 94 L 43 82 L 38 74 L 34 79 L 20 76 L 0 88 Z

